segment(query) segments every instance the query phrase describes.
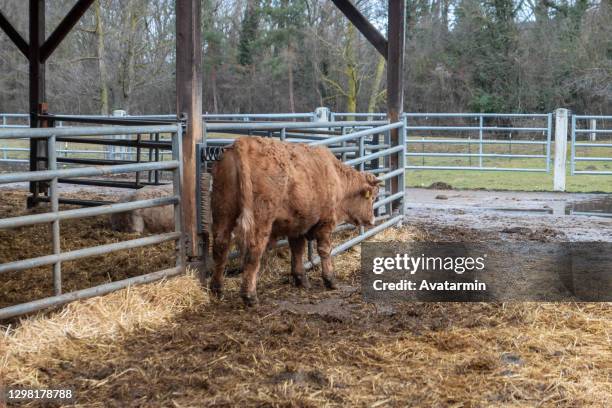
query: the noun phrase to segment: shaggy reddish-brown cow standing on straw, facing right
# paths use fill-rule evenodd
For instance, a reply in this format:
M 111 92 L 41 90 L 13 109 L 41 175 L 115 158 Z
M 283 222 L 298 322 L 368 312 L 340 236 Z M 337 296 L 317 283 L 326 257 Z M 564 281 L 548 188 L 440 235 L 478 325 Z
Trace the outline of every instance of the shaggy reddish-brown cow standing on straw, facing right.
M 240 138 L 212 173 L 215 269 L 210 288 L 221 295 L 231 233 L 236 228 L 246 254 L 241 292 L 249 306 L 257 304 L 257 273 L 269 242 L 288 237 L 295 284 L 308 288 L 302 257 L 306 238 L 316 239 L 323 281 L 334 289 L 330 253 L 336 225 L 374 224 L 378 180 L 345 165 L 326 147 Z

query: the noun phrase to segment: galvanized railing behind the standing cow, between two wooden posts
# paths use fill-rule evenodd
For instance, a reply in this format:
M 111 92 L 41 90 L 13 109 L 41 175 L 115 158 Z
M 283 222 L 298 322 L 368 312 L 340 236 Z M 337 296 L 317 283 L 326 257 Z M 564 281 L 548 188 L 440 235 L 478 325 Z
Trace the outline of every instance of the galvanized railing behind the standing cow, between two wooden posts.
M 205 123 L 205 132 L 210 133 L 244 133 L 262 131 L 264 136 L 275 137 L 290 143 L 308 143 L 311 145 L 327 146 L 336 156 L 345 163 L 358 169 L 378 176 L 384 181 L 385 186 L 381 189 L 374 203 L 377 225 L 371 229 L 360 228 L 359 234 L 332 250 L 332 255 L 348 250 L 361 241 L 383 231 L 390 226 L 400 223 L 404 214 L 404 190 L 405 190 L 405 132 L 404 123 L 397 122 L 389 124 L 386 121 L 341 121 L 341 122 L 268 122 L 268 123 Z M 350 132 L 355 128 L 367 127 L 364 130 Z M 390 143 L 390 131 L 399 129 L 400 143 L 392 146 Z M 304 133 L 312 131 L 312 133 Z M 350 132 L 350 133 L 349 133 Z M 330 136 L 331 135 L 331 136 Z M 205 143 L 200 145 L 200 162 L 204 162 L 206 156 L 215 156 L 219 148 L 233 142 L 228 138 L 206 138 Z M 390 157 L 398 155 L 398 168 L 392 169 Z M 198 166 L 200 167 L 200 166 Z M 391 193 L 392 180 L 398 182 L 398 192 Z M 200 194 L 198 194 L 198 197 Z M 200 212 L 198 212 L 200 213 Z M 336 228 L 336 232 L 354 228 L 352 225 L 343 224 Z M 281 240 L 278 245 L 286 245 L 286 240 Z M 309 243 L 309 261 L 307 268 L 319 262 L 313 256 L 312 243 Z M 239 253 L 230 254 L 230 258 L 237 258 Z

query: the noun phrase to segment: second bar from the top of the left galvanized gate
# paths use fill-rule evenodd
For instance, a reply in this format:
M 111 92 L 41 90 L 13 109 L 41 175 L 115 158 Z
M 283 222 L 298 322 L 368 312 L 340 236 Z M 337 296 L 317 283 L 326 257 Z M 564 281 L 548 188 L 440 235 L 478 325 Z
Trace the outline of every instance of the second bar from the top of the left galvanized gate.
M 0 184 L 18 183 L 21 181 L 50 180 L 55 177 L 69 178 L 101 176 L 107 174 L 121 174 L 134 172 L 136 170 L 171 170 L 178 166 L 179 163 L 175 160 L 172 160 L 166 162 L 122 164 L 118 166 L 107 167 L 81 167 L 74 169 L 43 170 L 35 172 L 26 171 L 19 173 L 0 174 Z

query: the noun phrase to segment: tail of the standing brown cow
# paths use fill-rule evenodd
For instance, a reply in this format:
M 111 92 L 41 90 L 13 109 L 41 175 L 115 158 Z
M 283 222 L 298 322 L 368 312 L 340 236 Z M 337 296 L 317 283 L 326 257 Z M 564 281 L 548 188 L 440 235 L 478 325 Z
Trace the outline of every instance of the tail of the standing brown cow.
M 248 244 L 253 240 L 253 183 L 251 182 L 251 165 L 247 160 L 247 152 L 240 143 L 236 143 L 235 152 L 237 158 L 238 173 L 238 201 L 240 204 L 240 216 L 238 217 L 238 234 L 242 238 L 242 247 L 248 248 Z

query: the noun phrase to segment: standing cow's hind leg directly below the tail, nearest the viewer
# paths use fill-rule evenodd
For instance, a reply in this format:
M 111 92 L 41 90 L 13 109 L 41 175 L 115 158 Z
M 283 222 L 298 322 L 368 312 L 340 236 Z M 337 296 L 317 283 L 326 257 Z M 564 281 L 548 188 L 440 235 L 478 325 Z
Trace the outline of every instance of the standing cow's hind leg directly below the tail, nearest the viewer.
M 268 245 L 272 222 L 259 221 L 257 231 L 253 234 L 253 240 L 247 242 L 247 250 L 244 257 L 242 268 L 242 288 L 241 294 L 247 306 L 256 306 L 259 303 L 257 298 L 257 274 L 261 265 L 261 257 Z

